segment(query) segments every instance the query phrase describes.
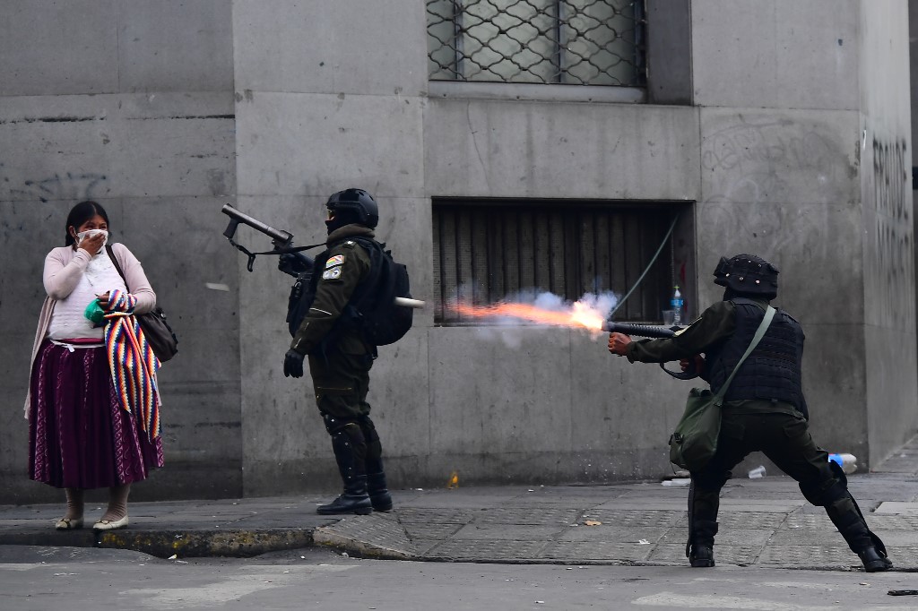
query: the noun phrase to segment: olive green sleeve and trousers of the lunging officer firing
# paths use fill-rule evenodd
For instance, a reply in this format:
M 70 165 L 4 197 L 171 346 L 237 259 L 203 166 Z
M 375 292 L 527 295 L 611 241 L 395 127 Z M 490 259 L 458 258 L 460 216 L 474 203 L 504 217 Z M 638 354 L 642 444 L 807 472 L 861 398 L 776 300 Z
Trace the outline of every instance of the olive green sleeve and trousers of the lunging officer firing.
M 754 301 L 763 310 L 768 305 L 764 300 Z M 732 302 L 718 302 L 671 339 L 633 341 L 628 344 L 625 356 L 632 362 L 692 359 L 722 346 L 722 342 L 733 336 L 735 311 Z M 691 472 L 689 545 L 686 549 L 689 558 L 692 558 L 691 546 L 700 544 L 710 548 L 713 545 L 721 488 L 730 479 L 730 470 L 757 450 L 794 478 L 800 484 L 800 492 L 812 505 L 825 507 L 851 550 L 860 553 L 874 544 L 882 548 L 882 541 L 869 531 L 854 498 L 848 493 L 844 472 L 828 460 L 828 453 L 810 436 L 805 413 L 806 405 L 798 409 L 790 403 L 767 398 L 723 403 L 721 433 L 714 457 L 704 469 Z M 885 548 L 882 549 L 885 554 Z

